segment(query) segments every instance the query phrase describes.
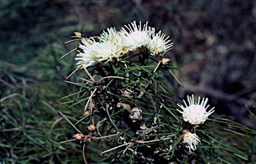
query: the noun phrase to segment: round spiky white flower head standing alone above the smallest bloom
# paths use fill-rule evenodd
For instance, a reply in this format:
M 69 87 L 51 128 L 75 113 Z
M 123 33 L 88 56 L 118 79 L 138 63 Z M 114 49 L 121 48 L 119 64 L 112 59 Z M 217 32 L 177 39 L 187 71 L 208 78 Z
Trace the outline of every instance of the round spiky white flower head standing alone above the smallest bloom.
M 185 103 L 185 107 L 182 105 L 177 104 L 183 111 L 179 111 L 179 113 L 182 114 L 183 120 L 191 123 L 191 125 L 197 125 L 204 123 L 209 115 L 211 115 L 214 112 L 214 107 L 207 111 L 207 108 L 209 105 L 206 106 L 208 99 L 203 97 L 203 100 L 200 102 L 200 97 L 198 97 L 198 102 L 196 103 L 194 101 L 194 95 L 191 97 L 187 96 L 187 101 L 189 101 L 189 106 L 187 106 L 187 103 L 185 100 L 183 102 Z

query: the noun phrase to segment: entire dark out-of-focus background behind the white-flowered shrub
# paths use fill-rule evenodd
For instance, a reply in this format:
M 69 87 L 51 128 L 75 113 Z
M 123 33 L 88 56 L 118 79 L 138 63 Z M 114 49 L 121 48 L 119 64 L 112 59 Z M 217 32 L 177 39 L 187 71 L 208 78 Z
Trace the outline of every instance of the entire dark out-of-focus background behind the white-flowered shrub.
M 57 144 L 76 133 L 57 110 L 82 114 L 59 105 L 77 91 L 63 82 L 76 67 L 75 53 L 59 58 L 78 43 L 63 43 L 74 31 L 91 37 L 133 20 L 148 21 L 173 41 L 166 56 L 184 88 L 169 73 L 165 83 L 175 93 L 207 96 L 217 114 L 255 129 L 245 105 L 255 112 L 256 1 L 1 0 L 0 19 L 0 161 L 83 161 L 79 144 Z M 97 161 L 93 144 L 89 158 Z

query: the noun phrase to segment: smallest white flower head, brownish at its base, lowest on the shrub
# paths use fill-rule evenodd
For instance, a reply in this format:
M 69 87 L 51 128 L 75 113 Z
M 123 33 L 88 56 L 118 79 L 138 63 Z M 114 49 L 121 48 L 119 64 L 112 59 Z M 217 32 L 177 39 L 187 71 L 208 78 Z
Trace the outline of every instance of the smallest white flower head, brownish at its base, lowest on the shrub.
M 191 133 L 188 130 L 183 131 L 183 135 L 181 135 L 182 143 L 185 144 L 185 147 L 189 148 L 189 152 L 191 149 L 195 151 L 197 149 L 197 145 L 200 142 L 200 139 L 196 133 Z

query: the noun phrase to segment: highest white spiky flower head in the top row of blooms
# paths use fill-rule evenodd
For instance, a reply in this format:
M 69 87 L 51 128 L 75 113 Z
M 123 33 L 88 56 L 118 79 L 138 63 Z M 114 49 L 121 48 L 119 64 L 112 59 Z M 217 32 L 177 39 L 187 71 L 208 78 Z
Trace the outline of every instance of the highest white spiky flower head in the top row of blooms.
M 125 49 L 129 51 L 135 51 L 137 49 L 142 49 L 147 46 L 149 41 L 151 40 L 151 27 L 145 25 L 141 25 L 141 21 L 137 26 L 136 21 L 133 21 L 131 25 L 125 25 L 128 29 L 126 31 L 122 28 L 121 34 L 123 35 L 123 45 L 125 45 Z

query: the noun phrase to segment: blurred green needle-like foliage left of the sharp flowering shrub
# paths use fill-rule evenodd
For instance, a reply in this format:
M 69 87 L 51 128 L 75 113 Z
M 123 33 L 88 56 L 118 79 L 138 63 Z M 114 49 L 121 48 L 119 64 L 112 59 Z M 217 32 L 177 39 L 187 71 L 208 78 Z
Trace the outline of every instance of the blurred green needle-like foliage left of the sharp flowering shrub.
M 41 55 L 23 67 L 1 62 L 0 159 L 5 163 L 82 161 L 75 156 L 79 145 L 63 147 L 57 141 L 71 137 L 57 109 L 65 109 L 58 99 L 72 89 L 61 82 L 65 72 L 56 63 L 56 49 L 41 49 Z

